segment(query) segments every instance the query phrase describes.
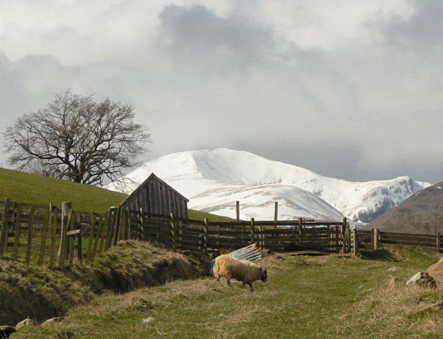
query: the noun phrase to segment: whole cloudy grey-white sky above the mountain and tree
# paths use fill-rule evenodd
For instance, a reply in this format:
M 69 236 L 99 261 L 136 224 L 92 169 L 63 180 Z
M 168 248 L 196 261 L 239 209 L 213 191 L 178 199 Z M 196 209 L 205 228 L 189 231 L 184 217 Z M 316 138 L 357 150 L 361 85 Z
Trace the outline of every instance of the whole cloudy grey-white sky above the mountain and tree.
M 132 104 L 143 161 L 228 147 L 437 183 L 442 17 L 439 0 L 0 0 L 0 129 L 70 88 Z

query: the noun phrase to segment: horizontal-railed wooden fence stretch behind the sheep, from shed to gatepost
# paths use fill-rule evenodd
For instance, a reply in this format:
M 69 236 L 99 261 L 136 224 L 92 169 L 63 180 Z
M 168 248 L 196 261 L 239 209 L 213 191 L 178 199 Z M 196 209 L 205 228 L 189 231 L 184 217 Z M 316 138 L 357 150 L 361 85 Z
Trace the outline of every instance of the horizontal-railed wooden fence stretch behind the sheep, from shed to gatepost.
M 137 211 L 130 211 L 137 214 Z M 251 243 L 272 250 L 311 249 L 328 252 L 343 250 L 340 222 L 293 221 L 196 221 L 141 213 L 141 239 L 170 248 L 219 252 L 235 250 Z

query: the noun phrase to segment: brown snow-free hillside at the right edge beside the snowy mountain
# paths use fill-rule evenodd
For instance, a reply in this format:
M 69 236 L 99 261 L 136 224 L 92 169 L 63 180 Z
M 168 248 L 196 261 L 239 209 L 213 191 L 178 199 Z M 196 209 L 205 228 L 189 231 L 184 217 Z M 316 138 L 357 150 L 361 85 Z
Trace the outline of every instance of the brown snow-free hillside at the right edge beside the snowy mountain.
M 443 182 L 413 194 L 365 226 L 397 232 L 442 232 Z

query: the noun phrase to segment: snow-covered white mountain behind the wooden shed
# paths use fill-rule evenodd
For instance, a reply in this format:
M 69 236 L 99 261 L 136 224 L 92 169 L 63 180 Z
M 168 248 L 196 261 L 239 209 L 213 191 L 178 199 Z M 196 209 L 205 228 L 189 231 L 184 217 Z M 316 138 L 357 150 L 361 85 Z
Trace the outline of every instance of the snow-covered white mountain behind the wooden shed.
M 351 182 L 320 176 L 302 167 L 270 161 L 249 152 L 213 149 L 179 152 L 149 161 L 109 190 L 130 193 L 152 172 L 188 197 L 188 207 L 241 218 L 309 217 L 368 223 L 408 196 L 431 185 L 401 176 L 386 181 Z

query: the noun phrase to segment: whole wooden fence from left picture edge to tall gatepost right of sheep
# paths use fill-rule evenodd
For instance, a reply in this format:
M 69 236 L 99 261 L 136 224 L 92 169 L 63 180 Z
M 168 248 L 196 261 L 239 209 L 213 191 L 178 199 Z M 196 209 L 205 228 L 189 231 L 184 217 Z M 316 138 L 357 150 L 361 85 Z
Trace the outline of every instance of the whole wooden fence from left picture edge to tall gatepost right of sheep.
M 0 259 L 63 269 L 93 262 L 122 239 L 155 241 L 172 249 L 200 253 L 235 250 L 249 244 L 272 250 L 343 250 L 343 222 L 293 221 L 213 222 L 147 214 L 122 206 L 105 213 L 62 206 L 0 201 Z M 349 232 L 345 233 L 349 235 Z

